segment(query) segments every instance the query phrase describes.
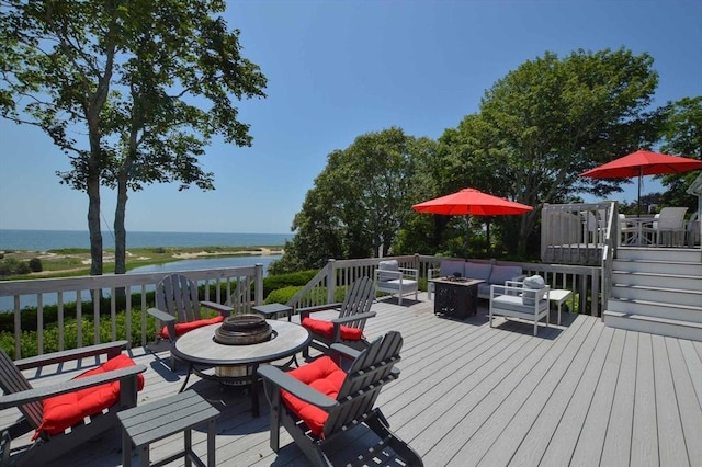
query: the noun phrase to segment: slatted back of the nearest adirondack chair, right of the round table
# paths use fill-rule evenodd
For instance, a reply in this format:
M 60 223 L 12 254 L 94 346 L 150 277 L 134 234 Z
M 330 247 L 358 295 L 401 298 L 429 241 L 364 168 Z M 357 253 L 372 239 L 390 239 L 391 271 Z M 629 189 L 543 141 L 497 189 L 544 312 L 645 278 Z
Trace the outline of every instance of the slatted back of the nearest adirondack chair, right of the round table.
M 383 385 L 397 378 L 398 372 L 393 368 L 400 360 L 401 348 L 401 334 L 390 331 L 361 352 L 339 390 L 337 400 L 340 405 L 329 412 L 325 433 L 333 433 L 373 410 Z

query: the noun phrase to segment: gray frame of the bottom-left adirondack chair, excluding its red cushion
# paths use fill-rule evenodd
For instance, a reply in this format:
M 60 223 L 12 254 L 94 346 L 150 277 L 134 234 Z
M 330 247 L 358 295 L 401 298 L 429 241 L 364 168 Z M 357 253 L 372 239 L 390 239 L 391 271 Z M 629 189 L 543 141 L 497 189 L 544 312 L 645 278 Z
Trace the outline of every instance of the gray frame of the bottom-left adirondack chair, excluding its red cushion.
M 126 349 L 126 341 L 110 342 L 18 360 L 16 362 L 13 362 L 4 351 L 0 350 L 0 388 L 4 392 L 0 396 L 0 410 L 16 407 L 22 413 L 22 417 L 14 424 L 3 429 L 0 465 L 44 465 L 117 426 L 117 411 L 136 406 L 137 375 L 144 373 L 146 366 L 128 366 L 39 388 L 33 388 L 22 371 L 104 354 L 107 355 L 107 358 L 112 358 L 120 355 L 122 350 Z M 42 403 L 44 399 L 112 381 L 120 381 L 120 401 L 115 406 L 105 407 L 104 409 L 109 409 L 106 412 L 90 415 L 89 424 L 75 425 L 71 426 L 70 432 L 54 435 L 39 431 L 38 437 L 33 444 L 21 447 L 11 446 L 12 440 L 39 429 L 44 417 Z M 10 456 L 11 451 L 13 452 L 12 456 Z

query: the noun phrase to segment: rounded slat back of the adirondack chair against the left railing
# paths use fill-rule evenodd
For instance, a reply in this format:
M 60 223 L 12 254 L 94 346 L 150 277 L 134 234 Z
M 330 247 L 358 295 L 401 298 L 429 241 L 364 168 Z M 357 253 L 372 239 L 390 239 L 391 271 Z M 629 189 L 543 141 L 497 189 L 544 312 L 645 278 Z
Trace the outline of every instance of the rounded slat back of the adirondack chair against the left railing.
M 167 275 L 156 285 L 156 307 L 173 315 L 178 322 L 200 319 L 197 284 L 184 275 Z

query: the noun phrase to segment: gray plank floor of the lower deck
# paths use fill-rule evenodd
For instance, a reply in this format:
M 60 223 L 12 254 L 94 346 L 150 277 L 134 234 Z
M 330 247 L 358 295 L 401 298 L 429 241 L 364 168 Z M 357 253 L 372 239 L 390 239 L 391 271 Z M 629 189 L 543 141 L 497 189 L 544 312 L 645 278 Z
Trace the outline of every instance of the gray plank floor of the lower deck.
M 533 327 L 518 321 L 499 319 L 490 329 L 485 310 L 455 321 L 435 317 L 430 301 L 396 304 L 374 305 L 377 317 L 366 324 L 370 338 L 395 329 L 405 340 L 403 373 L 378 406 L 426 466 L 702 466 L 702 343 L 568 314 L 533 337 Z M 172 374 L 141 349 L 133 354 L 148 366 L 139 405 L 178 391 L 183 372 Z M 269 447 L 263 397 L 253 419 L 240 388 L 204 380 L 190 388 L 222 411 L 217 465 L 307 465 L 285 432 L 278 455 Z M 352 430 L 330 449 L 335 464 L 369 437 L 364 428 Z M 204 428 L 193 442 L 204 454 Z M 115 431 L 57 465 L 121 465 L 118 445 Z M 182 437 L 166 438 L 151 459 L 181 447 Z

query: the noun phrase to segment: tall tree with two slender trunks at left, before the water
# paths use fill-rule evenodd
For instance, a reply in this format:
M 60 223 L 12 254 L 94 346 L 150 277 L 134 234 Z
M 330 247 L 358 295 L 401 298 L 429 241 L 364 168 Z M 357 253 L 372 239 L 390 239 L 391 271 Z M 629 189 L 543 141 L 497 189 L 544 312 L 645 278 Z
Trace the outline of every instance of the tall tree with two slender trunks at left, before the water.
M 213 189 L 197 156 L 214 135 L 249 146 L 234 105 L 263 98 L 220 0 L 5 0 L 2 115 L 38 126 L 70 158 L 61 182 L 89 197 L 91 274 L 102 273 L 100 185 L 117 189 L 115 272 L 125 272 L 129 190 L 154 182 Z M 73 136 L 84 130 L 87 140 Z M 82 129 L 84 128 L 84 129 Z

